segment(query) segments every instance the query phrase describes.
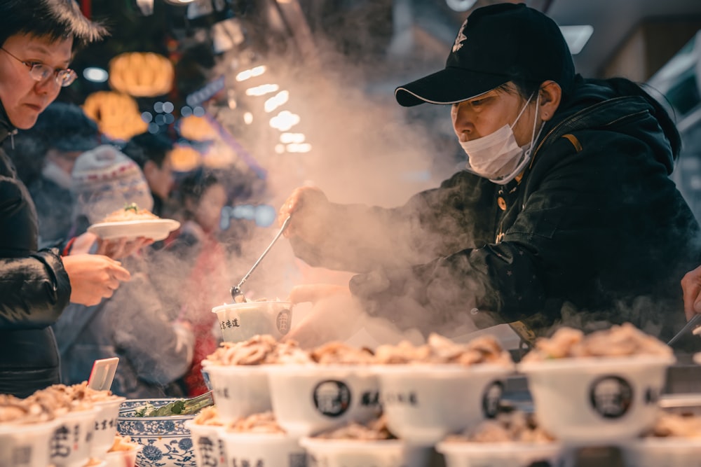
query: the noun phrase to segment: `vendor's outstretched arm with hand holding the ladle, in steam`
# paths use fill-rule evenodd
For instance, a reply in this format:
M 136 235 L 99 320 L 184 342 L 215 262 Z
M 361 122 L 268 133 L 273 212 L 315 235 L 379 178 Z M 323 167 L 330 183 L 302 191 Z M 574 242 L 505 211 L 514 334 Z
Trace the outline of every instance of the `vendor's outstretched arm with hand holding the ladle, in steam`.
M 303 187 L 283 204 L 280 221 L 292 215 L 285 235 L 310 265 L 353 272 L 407 267 L 484 243 L 475 218 L 493 193 L 491 183 L 467 172 L 393 209 L 336 204 Z

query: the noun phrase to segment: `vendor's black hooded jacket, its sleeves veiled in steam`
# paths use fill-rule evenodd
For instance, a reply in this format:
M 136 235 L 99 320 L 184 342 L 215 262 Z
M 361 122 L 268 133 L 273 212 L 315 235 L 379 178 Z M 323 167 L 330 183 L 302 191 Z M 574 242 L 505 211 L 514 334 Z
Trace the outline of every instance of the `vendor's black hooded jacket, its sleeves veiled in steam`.
M 399 326 L 632 321 L 665 338 L 698 257 L 699 226 L 669 179 L 679 141 L 637 85 L 578 77 L 519 182 L 459 172 L 395 209 L 334 204 L 325 242 L 292 245 L 311 265 L 365 272 L 351 291 Z

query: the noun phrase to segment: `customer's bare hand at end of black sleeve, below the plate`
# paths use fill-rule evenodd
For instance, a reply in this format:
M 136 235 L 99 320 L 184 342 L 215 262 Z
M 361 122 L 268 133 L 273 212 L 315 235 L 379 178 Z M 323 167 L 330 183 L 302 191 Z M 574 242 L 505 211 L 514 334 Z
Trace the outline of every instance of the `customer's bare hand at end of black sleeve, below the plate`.
M 63 267 L 71 281 L 71 302 L 86 306 L 111 297 L 122 281 L 131 278 L 121 263 L 102 255 L 64 256 Z

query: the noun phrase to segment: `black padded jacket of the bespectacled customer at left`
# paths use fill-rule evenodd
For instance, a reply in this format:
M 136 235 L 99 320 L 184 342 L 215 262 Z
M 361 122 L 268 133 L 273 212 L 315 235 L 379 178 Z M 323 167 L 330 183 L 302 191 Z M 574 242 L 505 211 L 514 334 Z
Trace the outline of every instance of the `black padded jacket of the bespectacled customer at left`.
M 0 141 L 13 131 L 0 108 Z M 26 397 L 60 382 L 49 326 L 70 295 L 57 249 L 37 251 L 34 204 L 0 152 L 0 393 Z

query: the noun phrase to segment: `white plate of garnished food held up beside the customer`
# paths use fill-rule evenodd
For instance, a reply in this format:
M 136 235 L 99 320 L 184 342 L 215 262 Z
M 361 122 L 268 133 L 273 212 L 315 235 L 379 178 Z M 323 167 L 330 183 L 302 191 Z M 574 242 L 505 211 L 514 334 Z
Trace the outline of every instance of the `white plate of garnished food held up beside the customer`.
M 168 237 L 168 234 L 179 226 L 178 221 L 162 219 L 132 203 L 109 214 L 101 222 L 90 225 L 88 232 L 106 240 L 145 237 L 158 242 Z

